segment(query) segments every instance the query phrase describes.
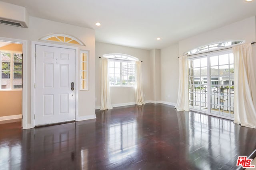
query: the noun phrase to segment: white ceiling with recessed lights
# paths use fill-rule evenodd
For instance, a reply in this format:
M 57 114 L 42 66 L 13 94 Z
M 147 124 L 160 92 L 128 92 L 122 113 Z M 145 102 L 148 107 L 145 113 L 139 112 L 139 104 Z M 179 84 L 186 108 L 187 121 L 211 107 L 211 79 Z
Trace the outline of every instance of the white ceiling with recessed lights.
M 95 29 L 96 41 L 160 49 L 256 16 L 256 0 L 2 0 L 30 16 Z M 94 23 L 100 22 L 100 27 Z M 161 37 L 161 40 L 156 40 Z

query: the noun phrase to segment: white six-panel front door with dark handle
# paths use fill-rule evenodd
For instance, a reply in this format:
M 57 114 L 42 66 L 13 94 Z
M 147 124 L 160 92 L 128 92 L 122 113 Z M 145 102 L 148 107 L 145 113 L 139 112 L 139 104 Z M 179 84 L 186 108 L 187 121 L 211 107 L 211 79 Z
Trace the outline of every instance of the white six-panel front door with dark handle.
M 75 50 L 36 45 L 35 125 L 75 120 Z

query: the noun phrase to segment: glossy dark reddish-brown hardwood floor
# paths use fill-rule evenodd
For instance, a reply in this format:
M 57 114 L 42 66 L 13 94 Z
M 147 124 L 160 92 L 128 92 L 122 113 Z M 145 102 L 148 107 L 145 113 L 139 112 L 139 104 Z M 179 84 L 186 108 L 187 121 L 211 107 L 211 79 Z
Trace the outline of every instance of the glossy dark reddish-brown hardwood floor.
M 0 124 L 0 170 L 232 170 L 256 149 L 256 129 L 164 104 L 96 117 L 27 130 Z

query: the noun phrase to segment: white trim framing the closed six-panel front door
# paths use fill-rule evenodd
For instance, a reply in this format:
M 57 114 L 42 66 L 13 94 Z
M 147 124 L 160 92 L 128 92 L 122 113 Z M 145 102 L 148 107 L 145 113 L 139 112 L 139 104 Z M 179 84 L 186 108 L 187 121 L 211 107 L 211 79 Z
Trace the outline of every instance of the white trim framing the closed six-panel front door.
M 35 53 L 36 53 L 36 45 L 44 45 L 44 46 L 50 46 L 50 47 L 59 47 L 59 48 L 66 48 L 66 49 L 74 49 L 75 52 L 75 119 L 78 119 L 78 84 L 79 84 L 79 55 L 78 55 L 78 47 L 74 46 L 67 46 L 67 45 L 59 45 L 59 44 L 51 44 L 51 43 L 44 43 L 44 42 L 37 42 L 32 41 L 31 42 L 31 127 L 35 127 Z

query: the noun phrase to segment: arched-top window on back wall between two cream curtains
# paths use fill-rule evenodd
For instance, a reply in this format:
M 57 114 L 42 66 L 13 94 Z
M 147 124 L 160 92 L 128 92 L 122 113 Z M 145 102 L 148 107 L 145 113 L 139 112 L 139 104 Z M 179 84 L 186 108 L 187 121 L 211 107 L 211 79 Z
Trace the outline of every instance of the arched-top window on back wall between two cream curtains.
M 126 54 L 105 54 L 108 58 L 110 86 L 135 86 L 135 62 L 138 58 Z

